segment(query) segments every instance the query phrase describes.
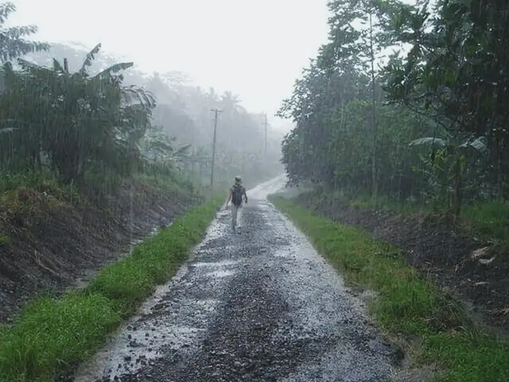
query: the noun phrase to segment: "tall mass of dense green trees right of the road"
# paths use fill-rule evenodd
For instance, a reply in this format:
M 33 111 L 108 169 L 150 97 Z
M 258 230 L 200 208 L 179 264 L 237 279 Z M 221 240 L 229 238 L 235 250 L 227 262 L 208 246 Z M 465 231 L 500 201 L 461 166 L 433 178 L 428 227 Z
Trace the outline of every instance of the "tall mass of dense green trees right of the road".
M 508 4 L 334 0 L 329 10 L 329 42 L 280 110 L 296 124 L 283 141 L 291 183 L 456 215 L 466 200 L 507 197 Z

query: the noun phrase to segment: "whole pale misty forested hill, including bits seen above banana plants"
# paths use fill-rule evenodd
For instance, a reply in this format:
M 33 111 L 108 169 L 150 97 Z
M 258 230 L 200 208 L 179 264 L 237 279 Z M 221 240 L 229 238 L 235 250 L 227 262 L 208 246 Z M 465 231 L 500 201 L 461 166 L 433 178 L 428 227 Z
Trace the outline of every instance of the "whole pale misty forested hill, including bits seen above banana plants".
M 69 68 L 78 69 L 84 53 L 84 47 L 79 45 L 54 44 L 49 52 L 28 54 L 27 59 L 51 66 L 53 57 L 69 57 Z M 103 71 L 115 62 L 115 57 L 100 53 L 90 69 Z M 152 110 L 152 125 L 157 131 L 150 133 L 151 136 L 160 137 L 165 144 L 180 146 L 180 151 L 170 156 L 172 161 L 186 173 L 194 174 L 194 178 L 201 179 L 202 184 L 210 182 L 213 108 L 223 110 L 217 128 L 216 181 L 230 180 L 238 174 L 245 179 L 259 180 L 283 172 L 279 162 L 282 135 L 268 124 L 265 156 L 264 116 L 247 112 L 233 93 L 226 91 L 220 95 L 213 88 L 205 90 L 193 86 L 187 76 L 178 71 L 145 74 L 131 68 L 124 74 L 124 83 L 153 94 L 157 105 Z M 165 144 L 160 142 L 158 145 Z M 154 158 L 153 154 L 149 156 Z M 163 158 L 161 155 L 156 157 Z

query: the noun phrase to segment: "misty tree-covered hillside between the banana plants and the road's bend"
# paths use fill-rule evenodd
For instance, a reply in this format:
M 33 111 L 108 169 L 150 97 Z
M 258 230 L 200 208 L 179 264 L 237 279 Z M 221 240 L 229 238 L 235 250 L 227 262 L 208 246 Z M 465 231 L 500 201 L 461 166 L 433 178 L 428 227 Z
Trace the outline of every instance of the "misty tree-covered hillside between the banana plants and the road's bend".
M 267 155 L 264 147 L 264 115 L 247 112 L 238 96 L 226 91 L 218 95 L 187 82 L 177 81 L 176 74 L 153 74 L 144 81 L 131 77 L 156 94 L 159 102 L 153 117 L 156 125 L 177 141 L 190 146 L 185 161 L 189 172 L 208 182 L 213 141 L 213 108 L 218 115 L 216 144 L 216 178 L 231 179 L 242 174 L 246 179 L 261 179 L 283 172 L 280 142 L 271 126 L 267 126 Z M 166 78 L 165 78 L 166 77 Z M 139 82 L 137 82 L 139 81 Z

